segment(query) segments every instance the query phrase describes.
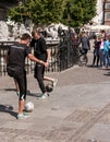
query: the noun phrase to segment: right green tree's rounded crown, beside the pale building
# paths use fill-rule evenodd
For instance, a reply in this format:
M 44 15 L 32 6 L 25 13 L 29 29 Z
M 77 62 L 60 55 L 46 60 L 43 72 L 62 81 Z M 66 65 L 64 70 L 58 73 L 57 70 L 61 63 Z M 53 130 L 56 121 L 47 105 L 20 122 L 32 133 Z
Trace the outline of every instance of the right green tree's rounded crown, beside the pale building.
M 88 23 L 96 15 L 97 0 L 68 0 L 62 22 L 71 26 Z

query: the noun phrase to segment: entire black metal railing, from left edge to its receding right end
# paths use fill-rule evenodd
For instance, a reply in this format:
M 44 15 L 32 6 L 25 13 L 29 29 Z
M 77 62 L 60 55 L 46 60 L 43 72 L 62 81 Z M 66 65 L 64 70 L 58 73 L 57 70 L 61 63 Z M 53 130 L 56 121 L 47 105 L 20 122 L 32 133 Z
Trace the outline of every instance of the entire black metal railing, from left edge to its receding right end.
M 14 42 L 1 42 L 0 43 L 0 75 L 7 75 L 7 62 L 5 56 L 8 49 Z M 76 63 L 76 55 L 74 54 L 74 48 L 72 39 L 69 35 L 62 36 L 59 43 L 48 43 L 48 48 L 51 51 L 50 66 L 46 69 L 46 72 L 58 72 L 66 70 Z M 32 48 L 34 54 L 34 49 Z M 34 72 L 35 62 L 26 58 L 25 69 L 27 73 Z

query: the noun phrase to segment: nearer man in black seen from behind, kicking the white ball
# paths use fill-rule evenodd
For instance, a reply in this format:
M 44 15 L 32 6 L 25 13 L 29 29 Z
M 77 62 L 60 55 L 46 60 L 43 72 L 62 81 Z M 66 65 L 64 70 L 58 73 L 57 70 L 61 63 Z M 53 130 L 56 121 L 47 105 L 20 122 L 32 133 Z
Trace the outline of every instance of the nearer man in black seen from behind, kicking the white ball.
M 16 80 L 20 88 L 17 119 L 27 117 L 27 115 L 23 113 L 27 86 L 25 58 L 27 57 L 30 60 L 39 62 L 39 64 L 47 67 L 46 62 L 35 58 L 35 56 L 32 55 L 30 48 L 28 47 L 29 42 L 30 36 L 28 34 L 23 34 L 21 40 L 9 48 L 7 57 L 8 74 Z

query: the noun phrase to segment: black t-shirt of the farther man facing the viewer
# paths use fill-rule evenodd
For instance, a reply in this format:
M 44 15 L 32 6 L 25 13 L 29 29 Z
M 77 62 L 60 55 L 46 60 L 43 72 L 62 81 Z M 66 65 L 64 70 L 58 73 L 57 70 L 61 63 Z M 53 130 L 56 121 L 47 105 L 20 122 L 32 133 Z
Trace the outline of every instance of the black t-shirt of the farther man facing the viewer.
M 34 47 L 35 57 L 42 61 L 47 60 L 47 46 L 46 40 L 42 37 L 38 39 L 33 38 L 30 42 L 30 47 Z

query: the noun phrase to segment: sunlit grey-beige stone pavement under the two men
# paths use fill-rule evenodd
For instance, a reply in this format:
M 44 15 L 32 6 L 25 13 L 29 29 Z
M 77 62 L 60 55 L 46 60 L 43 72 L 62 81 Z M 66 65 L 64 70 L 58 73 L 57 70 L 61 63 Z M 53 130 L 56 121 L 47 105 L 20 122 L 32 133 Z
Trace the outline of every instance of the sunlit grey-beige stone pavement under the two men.
M 16 119 L 17 96 L 13 80 L 0 78 L 0 142 L 110 142 L 110 71 L 74 66 L 47 75 L 59 82 L 47 99 L 33 74 L 27 75 L 29 118 Z

